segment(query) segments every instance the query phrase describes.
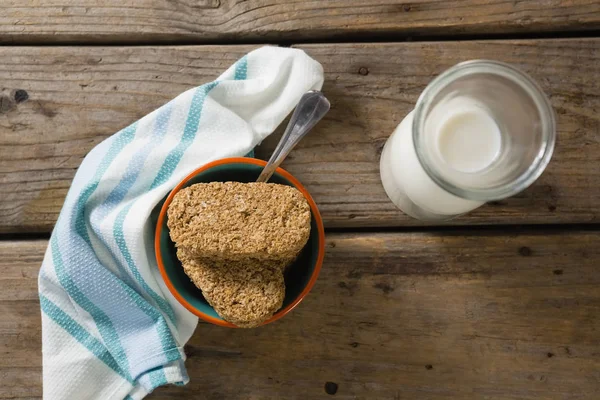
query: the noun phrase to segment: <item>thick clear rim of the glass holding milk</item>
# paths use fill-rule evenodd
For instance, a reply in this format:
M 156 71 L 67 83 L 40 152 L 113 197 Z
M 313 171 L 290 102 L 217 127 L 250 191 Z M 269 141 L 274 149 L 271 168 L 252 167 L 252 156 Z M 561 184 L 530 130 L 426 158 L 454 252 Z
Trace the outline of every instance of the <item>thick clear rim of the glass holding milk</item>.
M 465 189 L 445 179 L 439 169 L 433 166 L 430 156 L 422 150 L 424 147 L 422 141 L 423 135 L 420 134 L 423 130 L 425 116 L 427 111 L 429 111 L 431 100 L 455 79 L 473 73 L 488 73 L 512 80 L 531 96 L 542 119 L 542 145 L 529 168 L 510 182 L 485 189 Z M 415 147 L 417 158 L 427 175 L 435 183 L 455 196 L 487 202 L 511 197 L 529 187 L 540 177 L 554 152 L 556 117 L 550 100 L 539 84 L 528 74 L 510 64 L 500 61 L 471 60 L 456 64 L 447 69 L 427 85 L 419 96 L 417 105 L 415 106 L 412 134 L 413 146 Z

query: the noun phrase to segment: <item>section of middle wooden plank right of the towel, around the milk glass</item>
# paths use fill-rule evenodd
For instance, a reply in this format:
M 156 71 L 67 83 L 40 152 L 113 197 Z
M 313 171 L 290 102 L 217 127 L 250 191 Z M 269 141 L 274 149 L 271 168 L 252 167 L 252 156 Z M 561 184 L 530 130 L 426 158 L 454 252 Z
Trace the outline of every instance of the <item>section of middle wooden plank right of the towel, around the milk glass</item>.
M 600 197 L 600 40 L 481 41 L 303 46 L 327 71 L 327 120 L 285 167 L 309 185 L 328 226 L 418 224 L 395 209 L 380 183 L 385 141 L 440 72 L 495 59 L 531 74 L 557 113 L 547 171 L 528 190 L 449 224 L 595 222 Z M 273 148 L 276 137 L 266 148 Z

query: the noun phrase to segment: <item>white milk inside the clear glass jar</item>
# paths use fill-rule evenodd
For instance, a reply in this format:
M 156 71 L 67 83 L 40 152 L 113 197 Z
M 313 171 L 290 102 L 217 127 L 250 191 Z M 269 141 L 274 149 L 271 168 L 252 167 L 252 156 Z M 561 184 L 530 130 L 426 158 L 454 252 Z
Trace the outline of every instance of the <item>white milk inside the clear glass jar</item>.
M 455 196 L 427 174 L 413 143 L 413 112 L 386 143 L 380 162 L 383 187 L 392 202 L 408 215 L 439 220 L 464 214 L 483 204 Z M 427 117 L 423 149 L 446 177 L 468 183 L 500 154 L 502 135 L 491 112 L 477 101 L 458 97 L 436 105 Z

